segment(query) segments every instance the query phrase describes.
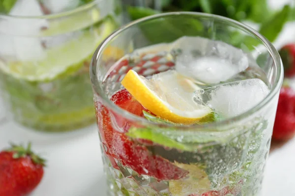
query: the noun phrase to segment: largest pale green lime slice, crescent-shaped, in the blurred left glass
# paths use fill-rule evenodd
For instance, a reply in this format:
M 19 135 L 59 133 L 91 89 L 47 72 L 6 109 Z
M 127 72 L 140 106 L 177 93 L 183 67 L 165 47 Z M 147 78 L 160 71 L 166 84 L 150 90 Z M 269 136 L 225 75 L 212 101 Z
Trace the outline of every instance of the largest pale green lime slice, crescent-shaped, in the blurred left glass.
M 16 78 L 29 81 L 51 81 L 64 73 L 72 73 L 83 66 L 85 59 L 90 59 L 97 45 L 108 36 L 116 25 L 107 20 L 95 31 L 85 31 L 76 40 L 59 47 L 48 49 L 41 61 L 12 62 L 0 64 L 0 68 Z

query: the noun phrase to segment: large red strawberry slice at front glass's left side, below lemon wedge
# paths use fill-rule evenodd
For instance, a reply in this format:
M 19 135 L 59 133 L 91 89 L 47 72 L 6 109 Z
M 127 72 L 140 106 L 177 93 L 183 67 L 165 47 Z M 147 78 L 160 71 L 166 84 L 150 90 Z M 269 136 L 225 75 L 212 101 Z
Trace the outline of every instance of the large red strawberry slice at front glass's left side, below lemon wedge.
M 143 107 L 125 89 L 118 91 L 111 100 L 128 112 L 142 116 Z M 123 117 L 114 117 L 99 101 L 95 103 L 97 123 L 103 141 L 105 153 L 114 167 L 117 159 L 122 165 L 133 169 L 139 174 L 146 174 L 158 180 L 177 180 L 188 174 L 187 171 L 178 168 L 168 160 L 153 155 L 147 147 L 130 140 L 124 132 L 131 125 Z M 114 119 L 116 125 L 114 125 Z M 123 128 L 122 128 L 123 126 Z

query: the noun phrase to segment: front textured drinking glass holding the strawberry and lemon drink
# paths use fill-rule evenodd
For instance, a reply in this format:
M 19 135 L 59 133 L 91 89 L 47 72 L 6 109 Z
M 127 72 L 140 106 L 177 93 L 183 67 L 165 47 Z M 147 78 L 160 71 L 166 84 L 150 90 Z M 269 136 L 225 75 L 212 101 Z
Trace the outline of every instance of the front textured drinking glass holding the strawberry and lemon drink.
M 270 93 L 235 117 L 190 126 L 152 123 L 110 100 L 123 88 L 120 81 L 131 69 L 145 77 L 174 69 L 173 58 L 166 57 L 177 49 L 166 46 L 183 36 L 242 49 L 256 65 L 250 77 L 264 80 Z M 216 50 L 213 46 L 194 47 Z M 220 52 L 236 55 L 226 47 Z M 153 15 L 106 38 L 93 55 L 90 78 L 109 196 L 260 196 L 283 69 L 276 49 L 257 31 L 211 14 Z M 153 141 L 165 137 L 169 142 L 159 145 L 130 137 L 133 128 L 145 131 Z M 176 143 L 178 148 L 172 147 Z M 193 150 L 186 150 L 186 145 Z

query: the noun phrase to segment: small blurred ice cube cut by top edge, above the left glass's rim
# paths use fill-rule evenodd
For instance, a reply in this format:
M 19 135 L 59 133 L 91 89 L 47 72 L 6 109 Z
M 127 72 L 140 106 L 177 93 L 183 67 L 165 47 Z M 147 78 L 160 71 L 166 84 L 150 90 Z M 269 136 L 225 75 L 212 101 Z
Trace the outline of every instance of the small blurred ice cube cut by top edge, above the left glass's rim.
M 44 0 L 43 5 L 52 13 L 59 13 L 78 7 L 79 0 Z

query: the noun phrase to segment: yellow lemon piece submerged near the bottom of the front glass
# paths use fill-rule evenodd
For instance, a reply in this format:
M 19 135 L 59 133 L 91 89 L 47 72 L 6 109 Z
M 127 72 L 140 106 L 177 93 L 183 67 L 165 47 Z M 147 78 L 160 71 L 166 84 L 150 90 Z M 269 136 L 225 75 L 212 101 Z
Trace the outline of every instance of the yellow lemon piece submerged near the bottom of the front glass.
M 175 163 L 179 168 L 189 172 L 188 178 L 169 181 L 172 196 L 202 195 L 210 190 L 211 182 L 207 173 L 198 165 Z

